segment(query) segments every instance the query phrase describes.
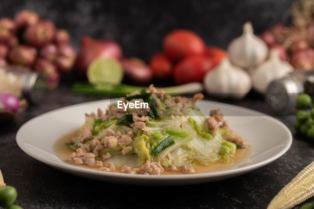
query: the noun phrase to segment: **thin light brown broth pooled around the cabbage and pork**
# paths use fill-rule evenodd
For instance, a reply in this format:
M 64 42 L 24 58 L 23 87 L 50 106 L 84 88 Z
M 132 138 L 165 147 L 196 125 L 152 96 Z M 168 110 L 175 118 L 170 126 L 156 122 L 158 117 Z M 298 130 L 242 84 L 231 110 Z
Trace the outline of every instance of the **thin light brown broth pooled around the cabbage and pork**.
M 63 135 L 60 137 L 54 144 L 53 150 L 54 153 L 56 153 L 57 157 L 60 158 L 64 163 L 70 164 L 73 166 L 78 166 L 81 168 L 87 168 L 87 169 L 94 169 L 98 170 L 98 168 L 89 167 L 88 165 L 74 165 L 68 161 L 70 154 L 73 153 L 73 150 L 66 145 L 67 142 L 71 142 L 72 137 L 76 137 L 79 129 L 73 130 L 69 132 L 68 134 Z M 215 162 L 209 166 L 203 166 L 203 165 L 196 165 L 193 166 L 196 173 L 208 173 L 208 172 L 217 172 L 217 171 L 223 171 L 223 170 L 229 170 L 238 167 L 242 163 L 246 162 L 253 154 L 253 148 L 252 145 L 249 145 L 248 147 L 244 149 L 236 149 L 236 154 L 234 157 L 231 157 L 228 162 L 218 161 Z M 123 157 L 130 158 L 127 159 L 127 161 L 132 161 L 134 156 L 124 155 Z M 109 158 L 107 161 L 109 162 L 113 157 Z M 128 165 L 128 164 L 127 164 Z M 128 165 L 131 166 L 132 165 Z M 120 173 L 122 167 L 116 166 L 115 172 Z M 169 175 L 169 174 L 183 174 L 179 171 L 166 171 L 162 173 L 161 175 Z

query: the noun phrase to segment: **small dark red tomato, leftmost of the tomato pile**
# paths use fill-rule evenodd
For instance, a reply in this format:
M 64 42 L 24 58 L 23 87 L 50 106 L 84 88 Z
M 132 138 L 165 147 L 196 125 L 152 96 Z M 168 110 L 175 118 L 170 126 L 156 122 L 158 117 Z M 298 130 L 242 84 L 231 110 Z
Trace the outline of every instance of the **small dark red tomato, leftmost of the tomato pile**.
M 171 76 L 172 63 L 163 53 L 155 54 L 149 65 L 156 78 L 169 78 Z

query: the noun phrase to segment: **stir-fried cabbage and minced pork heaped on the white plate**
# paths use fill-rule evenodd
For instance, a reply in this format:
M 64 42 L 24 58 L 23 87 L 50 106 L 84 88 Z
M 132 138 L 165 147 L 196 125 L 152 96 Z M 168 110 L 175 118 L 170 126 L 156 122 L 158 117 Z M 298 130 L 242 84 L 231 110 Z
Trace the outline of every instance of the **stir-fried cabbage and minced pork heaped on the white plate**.
M 160 175 L 167 172 L 194 174 L 195 166 L 228 162 L 237 148 L 247 143 L 232 131 L 220 110 L 206 117 L 195 103 L 203 99 L 171 97 L 154 85 L 127 94 L 104 112 L 85 114 L 69 161 L 100 171 Z M 143 103 L 132 108 L 125 104 Z M 120 104 L 121 105 L 121 104 Z

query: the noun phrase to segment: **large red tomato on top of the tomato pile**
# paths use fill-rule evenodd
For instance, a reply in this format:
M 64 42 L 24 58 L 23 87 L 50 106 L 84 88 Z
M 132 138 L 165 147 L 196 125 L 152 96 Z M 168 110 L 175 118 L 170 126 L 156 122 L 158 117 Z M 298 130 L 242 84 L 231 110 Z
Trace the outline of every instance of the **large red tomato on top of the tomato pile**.
M 173 60 L 203 54 L 205 47 L 205 43 L 199 35 L 186 29 L 173 30 L 163 40 L 164 51 Z

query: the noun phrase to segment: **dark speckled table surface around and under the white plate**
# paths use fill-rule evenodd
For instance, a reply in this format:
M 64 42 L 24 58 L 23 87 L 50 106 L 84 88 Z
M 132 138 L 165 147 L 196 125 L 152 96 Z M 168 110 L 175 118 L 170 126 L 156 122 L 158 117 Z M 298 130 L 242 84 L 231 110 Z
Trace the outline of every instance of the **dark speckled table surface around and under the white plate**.
M 16 132 L 35 116 L 100 99 L 106 97 L 73 95 L 70 88 L 60 86 L 40 105 L 30 106 L 13 125 L 0 127 L 0 169 L 6 184 L 18 191 L 15 204 L 23 208 L 266 208 L 279 190 L 314 160 L 313 143 L 295 136 L 293 114 L 275 116 L 294 135 L 282 157 L 248 174 L 201 185 L 145 187 L 84 179 L 53 169 L 18 147 Z M 271 115 L 263 98 L 252 92 L 242 101 L 225 102 Z

